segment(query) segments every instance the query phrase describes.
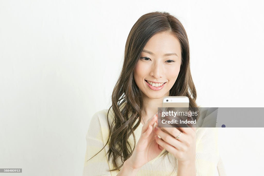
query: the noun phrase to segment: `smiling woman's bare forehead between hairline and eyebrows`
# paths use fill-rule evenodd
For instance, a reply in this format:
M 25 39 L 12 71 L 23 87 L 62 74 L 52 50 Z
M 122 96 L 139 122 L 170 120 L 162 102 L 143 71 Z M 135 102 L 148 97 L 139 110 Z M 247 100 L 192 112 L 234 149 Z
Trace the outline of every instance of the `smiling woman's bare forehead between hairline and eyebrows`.
M 177 53 L 181 54 L 181 44 L 178 38 L 169 33 L 162 32 L 153 35 L 144 47 L 154 54 Z

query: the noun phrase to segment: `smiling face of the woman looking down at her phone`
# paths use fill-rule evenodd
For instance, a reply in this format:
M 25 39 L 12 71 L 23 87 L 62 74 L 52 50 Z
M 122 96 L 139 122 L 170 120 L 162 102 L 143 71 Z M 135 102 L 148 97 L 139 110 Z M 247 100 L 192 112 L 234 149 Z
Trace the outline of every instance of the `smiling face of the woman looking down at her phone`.
M 153 35 L 140 55 L 134 79 L 140 91 L 151 99 L 169 96 L 181 66 L 181 44 L 168 32 Z

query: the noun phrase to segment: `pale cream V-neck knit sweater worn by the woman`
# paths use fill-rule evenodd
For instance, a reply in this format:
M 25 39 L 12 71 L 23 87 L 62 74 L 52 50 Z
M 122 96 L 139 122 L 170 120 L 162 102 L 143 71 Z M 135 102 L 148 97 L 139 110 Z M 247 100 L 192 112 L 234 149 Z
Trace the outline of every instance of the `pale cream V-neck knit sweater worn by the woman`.
M 83 176 L 90 175 L 117 175 L 118 171 L 109 172 L 113 169 L 112 162 L 108 162 L 106 152 L 109 145 L 95 157 L 106 144 L 108 139 L 107 111 L 101 110 L 95 113 L 90 122 L 90 126 L 86 135 L 87 149 L 84 161 Z M 112 111 L 109 112 L 110 122 L 114 118 Z M 135 130 L 136 142 L 139 140 L 143 124 L 140 123 Z M 129 140 L 133 143 L 133 137 Z M 169 153 L 168 157 L 158 156 L 154 160 L 142 166 L 137 175 L 177 175 L 178 165 L 177 159 Z M 219 161 L 218 152 L 218 129 L 217 128 L 196 128 L 196 175 L 211 176 L 218 175 L 217 164 Z M 121 163 L 121 160 L 118 161 Z M 176 167 L 175 167 L 176 166 Z

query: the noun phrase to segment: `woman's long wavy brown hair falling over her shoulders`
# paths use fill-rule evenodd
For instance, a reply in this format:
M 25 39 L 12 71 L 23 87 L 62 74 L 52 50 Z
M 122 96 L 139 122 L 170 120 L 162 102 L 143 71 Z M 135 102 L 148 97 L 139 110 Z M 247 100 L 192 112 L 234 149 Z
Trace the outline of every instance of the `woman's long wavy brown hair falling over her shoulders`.
M 189 109 L 193 112 L 198 110 L 197 94 L 190 72 L 189 42 L 183 25 L 168 12 L 151 12 L 141 16 L 130 30 L 126 40 L 124 64 L 112 93 L 112 106 L 107 113 L 109 137 L 105 146 L 109 143 L 107 155 L 109 161 L 112 158 L 115 168 L 113 170 L 120 170 L 124 161 L 132 155 L 136 146 L 134 131 L 142 119 L 142 95 L 134 80 L 136 64 L 148 40 L 154 34 L 164 31 L 170 32 L 178 38 L 182 56 L 180 72 L 175 84 L 169 91 L 169 96 L 187 96 L 190 100 Z M 114 119 L 109 122 L 111 108 Z M 138 118 L 139 120 L 137 120 Z M 137 123 L 135 123 L 136 121 Z M 130 135 L 133 135 L 133 143 L 128 141 Z M 163 154 L 168 154 L 168 152 L 165 151 Z M 121 165 L 117 162 L 119 158 L 122 161 Z

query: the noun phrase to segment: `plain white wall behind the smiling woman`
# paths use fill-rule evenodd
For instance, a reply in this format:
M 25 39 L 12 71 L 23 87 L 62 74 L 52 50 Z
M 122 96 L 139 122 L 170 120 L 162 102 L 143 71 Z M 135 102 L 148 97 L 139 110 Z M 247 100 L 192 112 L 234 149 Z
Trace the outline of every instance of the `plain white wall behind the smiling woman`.
M 152 11 L 185 27 L 199 104 L 263 107 L 263 8 L 249 0 L 1 0 L 0 168 L 82 175 L 90 119 L 110 106 L 129 31 Z M 228 175 L 263 174 L 262 132 L 219 129 Z

